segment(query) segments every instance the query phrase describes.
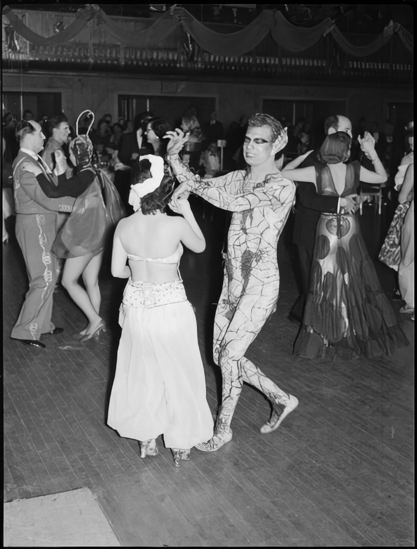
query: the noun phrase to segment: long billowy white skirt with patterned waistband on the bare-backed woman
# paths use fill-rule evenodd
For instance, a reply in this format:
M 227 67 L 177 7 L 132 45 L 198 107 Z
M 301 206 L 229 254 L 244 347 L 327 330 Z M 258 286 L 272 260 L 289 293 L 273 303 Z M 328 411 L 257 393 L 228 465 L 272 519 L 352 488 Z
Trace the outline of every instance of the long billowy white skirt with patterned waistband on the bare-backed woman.
M 120 306 L 122 334 L 108 425 L 137 440 L 163 434 L 189 449 L 213 436 L 213 418 L 193 308 L 182 281 L 129 282 Z

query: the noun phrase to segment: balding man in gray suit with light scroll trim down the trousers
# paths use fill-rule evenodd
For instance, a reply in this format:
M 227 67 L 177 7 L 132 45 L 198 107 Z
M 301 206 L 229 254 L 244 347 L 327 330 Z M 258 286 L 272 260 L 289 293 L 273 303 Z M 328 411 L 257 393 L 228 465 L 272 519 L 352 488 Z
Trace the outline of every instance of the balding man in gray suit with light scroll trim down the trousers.
M 38 155 L 45 136 L 35 120 L 22 120 L 16 126 L 19 153 L 13 161 L 13 187 L 16 205 L 16 239 L 25 259 L 29 291 L 10 337 L 25 345 L 45 348 L 41 334 L 57 334 L 51 321 L 52 300 L 57 278 L 57 258 L 51 252 L 57 234 L 57 212 L 71 212 L 72 197 L 48 198 L 33 173 L 25 166 L 36 164 L 44 174 L 57 181 Z

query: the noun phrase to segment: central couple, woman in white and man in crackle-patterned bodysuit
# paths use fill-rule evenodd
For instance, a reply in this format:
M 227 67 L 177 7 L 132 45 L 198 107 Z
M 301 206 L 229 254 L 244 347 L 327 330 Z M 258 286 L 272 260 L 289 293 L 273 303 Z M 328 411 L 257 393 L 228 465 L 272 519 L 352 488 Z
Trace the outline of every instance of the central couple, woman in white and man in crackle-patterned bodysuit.
M 257 114 L 249 121 L 244 142 L 249 169 L 212 180 L 201 180 L 179 160 L 187 135 L 177 129 L 166 138 L 167 159 L 179 187 L 173 191 L 173 178 L 166 175 L 161 157 L 141 157 L 129 196 L 135 213 L 115 232 L 112 275 L 128 278 L 128 283 L 120 307 L 122 334 L 108 424 L 121 436 L 139 440 L 141 457 L 158 453 L 156 438 L 163 434 L 178 465 L 190 457 L 193 446 L 216 451 L 232 439 L 230 422 L 243 382 L 271 402 L 263 434 L 277 429 L 298 404 L 244 356 L 277 307 L 277 242 L 295 186 L 275 166 L 275 154 L 285 147 L 287 136 L 269 115 Z M 182 244 L 197 253 L 205 248 L 188 191 L 233 212 L 213 336 L 223 377 L 214 430 L 195 316 L 178 270 Z M 183 217 L 167 216 L 168 204 Z

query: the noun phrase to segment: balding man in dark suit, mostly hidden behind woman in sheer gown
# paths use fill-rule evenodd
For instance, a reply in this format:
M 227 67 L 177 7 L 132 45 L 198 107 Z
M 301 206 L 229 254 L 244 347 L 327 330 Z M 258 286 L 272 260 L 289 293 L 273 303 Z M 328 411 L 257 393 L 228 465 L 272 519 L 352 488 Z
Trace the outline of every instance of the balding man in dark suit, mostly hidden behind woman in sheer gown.
M 352 138 L 352 122 L 343 115 L 329 116 L 324 122 L 324 132 L 325 135 L 336 132 L 346 132 Z M 317 162 L 319 150 L 319 148 L 309 150 L 307 153 L 292 160 L 286 167 L 295 169 L 296 167 L 304 168 L 313 166 L 314 163 Z M 339 213 L 340 208 L 345 208 L 345 210 L 356 208 L 357 200 L 357 195 L 351 195 L 346 198 L 318 195 L 314 183 L 303 182 L 297 184 L 292 242 L 294 242 L 297 247 L 301 292 L 288 315 L 289 320 L 300 323 L 302 320 L 313 260 L 315 229 L 320 214 L 322 214 L 322 212 L 337 214 Z

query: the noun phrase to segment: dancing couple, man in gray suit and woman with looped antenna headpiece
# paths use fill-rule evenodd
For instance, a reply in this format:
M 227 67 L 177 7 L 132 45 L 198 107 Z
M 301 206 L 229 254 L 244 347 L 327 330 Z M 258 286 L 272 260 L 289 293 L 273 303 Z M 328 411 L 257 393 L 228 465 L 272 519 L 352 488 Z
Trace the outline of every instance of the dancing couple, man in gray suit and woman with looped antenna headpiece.
M 85 135 L 78 135 L 78 121 L 86 113 L 92 119 L 91 124 Z M 98 277 L 106 235 L 121 201 L 117 191 L 110 192 L 112 183 L 108 178 L 92 165 L 93 144 L 88 132 L 93 121 L 90 110 L 78 116 L 77 136 L 69 145 L 76 175 L 69 178 L 65 155 L 60 149 L 54 152 L 54 172 L 37 155 L 44 140 L 40 125 L 22 122 L 16 132 L 21 149 L 14 165 L 19 212 L 16 235 L 26 261 L 29 292 L 11 337 L 38 348 L 46 347 L 40 341 L 41 334 L 63 332 L 63 328 L 56 328 L 50 321 L 58 259 L 65 260 L 61 283 L 88 320 L 87 327 L 75 338 L 97 339 L 106 330 L 99 314 Z M 106 197 L 114 197 L 112 203 L 110 200 L 104 203 L 102 189 Z M 66 212 L 64 223 L 59 222 L 58 215 L 62 214 L 57 212 Z M 78 282 L 80 277 L 84 287 Z

